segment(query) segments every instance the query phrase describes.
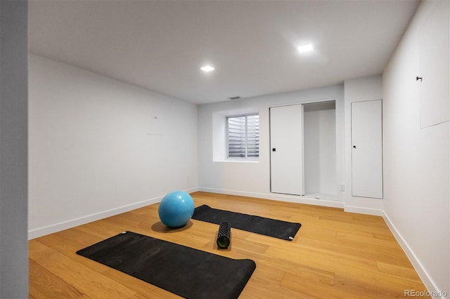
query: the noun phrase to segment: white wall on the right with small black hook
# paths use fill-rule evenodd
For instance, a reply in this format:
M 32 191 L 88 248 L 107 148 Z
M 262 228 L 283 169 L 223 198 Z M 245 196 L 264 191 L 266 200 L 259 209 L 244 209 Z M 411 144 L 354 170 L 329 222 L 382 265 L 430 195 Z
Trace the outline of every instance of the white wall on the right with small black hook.
M 384 209 L 428 289 L 450 294 L 449 123 L 420 128 L 423 94 L 416 81 L 420 60 L 449 61 L 418 45 L 420 34 L 435 33 L 423 31 L 425 18 L 442 18 L 427 13 L 434 5 L 447 12 L 448 22 L 449 1 L 423 2 L 383 74 Z M 439 96 L 449 100 L 444 84 Z

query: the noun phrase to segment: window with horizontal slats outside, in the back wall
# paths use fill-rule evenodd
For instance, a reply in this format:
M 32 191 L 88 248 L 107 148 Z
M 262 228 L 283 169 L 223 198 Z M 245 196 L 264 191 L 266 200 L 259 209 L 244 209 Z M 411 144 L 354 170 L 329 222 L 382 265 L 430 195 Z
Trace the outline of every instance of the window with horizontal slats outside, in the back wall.
M 259 115 L 226 118 L 227 158 L 259 157 Z

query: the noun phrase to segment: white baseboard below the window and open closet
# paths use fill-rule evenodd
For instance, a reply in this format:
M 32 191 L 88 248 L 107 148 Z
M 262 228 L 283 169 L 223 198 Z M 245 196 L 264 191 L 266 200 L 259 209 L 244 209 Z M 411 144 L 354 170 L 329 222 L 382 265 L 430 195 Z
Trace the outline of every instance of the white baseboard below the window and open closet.
M 208 187 L 198 187 L 198 191 L 219 193 L 219 194 L 230 194 L 238 195 L 241 197 L 256 197 L 260 199 L 271 199 L 276 201 L 288 201 L 295 202 L 297 204 L 312 204 L 314 206 L 329 206 L 331 208 L 343 208 L 344 203 L 342 201 L 333 201 L 327 199 L 312 199 L 309 197 L 298 196 L 298 195 L 288 195 L 288 194 L 277 194 L 277 193 L 259 193 L 259 192 L 245 192 L 237 190 L 224 190 Z

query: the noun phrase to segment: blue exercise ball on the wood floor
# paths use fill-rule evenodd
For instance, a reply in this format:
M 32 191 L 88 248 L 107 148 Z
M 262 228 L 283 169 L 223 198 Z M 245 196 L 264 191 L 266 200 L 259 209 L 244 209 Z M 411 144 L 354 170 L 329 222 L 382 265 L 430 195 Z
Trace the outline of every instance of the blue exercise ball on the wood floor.
M 182 227 L 194 214 L 194 200 L 184 191 L 174 191 L 162 198 L 158 215 L 167 227 Z

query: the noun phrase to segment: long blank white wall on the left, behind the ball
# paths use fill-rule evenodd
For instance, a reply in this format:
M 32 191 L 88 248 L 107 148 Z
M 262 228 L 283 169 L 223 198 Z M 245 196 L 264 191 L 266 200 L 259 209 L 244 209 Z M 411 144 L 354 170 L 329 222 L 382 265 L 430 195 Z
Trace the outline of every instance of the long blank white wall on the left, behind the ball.
M 196 190 L 196 105 L 29 59 L 30 238 Z

